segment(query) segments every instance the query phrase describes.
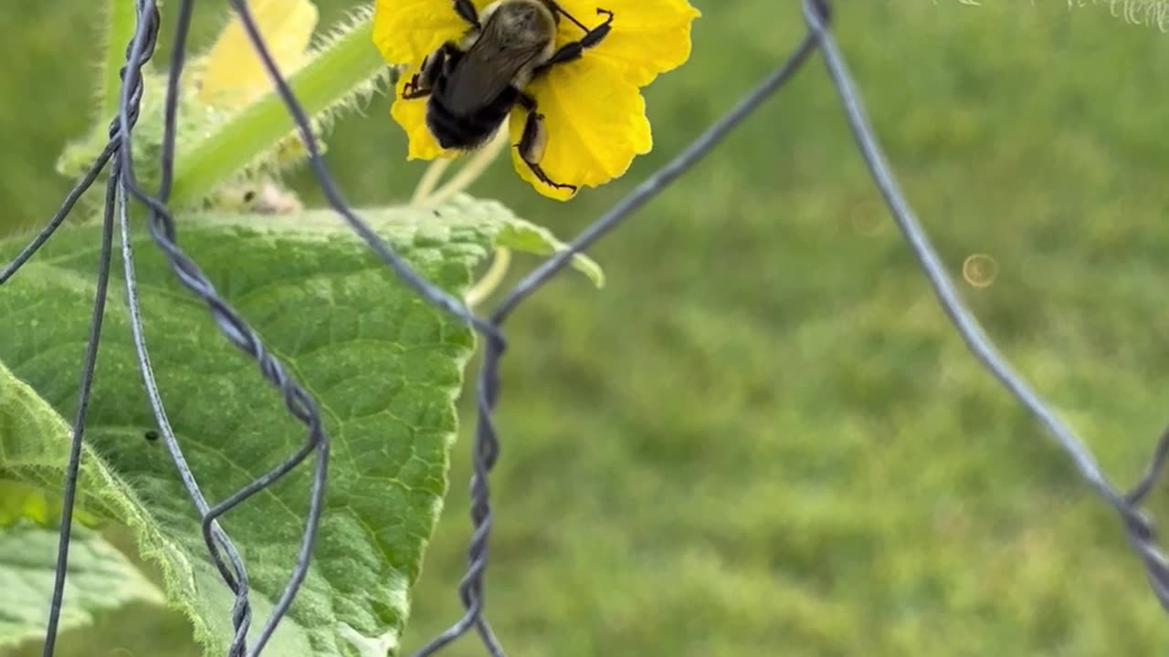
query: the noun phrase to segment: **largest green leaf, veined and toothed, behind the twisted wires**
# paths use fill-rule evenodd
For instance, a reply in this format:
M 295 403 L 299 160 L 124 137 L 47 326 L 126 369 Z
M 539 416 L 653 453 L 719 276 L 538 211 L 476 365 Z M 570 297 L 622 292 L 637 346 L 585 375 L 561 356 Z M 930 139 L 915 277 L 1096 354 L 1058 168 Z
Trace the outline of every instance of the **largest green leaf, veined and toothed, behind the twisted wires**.
M 361 214 L 451 293 L 468 288 L 471 267 L 492 248 L 531 249 L 533 235 L 546 235 L 498 203 L 465 196 L 435 212 Z M 0 289 L 0 361 L 65 417 L 75 404 L 98 241 L 92 224 L 63 231 Z M 179 241 L 319 401 L 332 438 L 312 568 L 267 652 L 385 653 L 397 644 L 447 491 L 454 400 L 473 336 L 393 277 L 333 213 L 185 216 Z M 0 242 L 0 262 L 19 247 Z M 221 500 L 300 447 L 305 431 L 144 233 L 134 247 L 146 338 L 171 422 L 205 493 Z M 600 282 L 595 264 L 577 267 Z M 120 263 L 115 271 L 82 504 L 133 527 L 143 554 L 161 566 L 168 597 L 189 613 L 210 653 L 222 655 L 231 596 L 164 444 L 144 438 L 154 419 L 136 371 Z M 0 408 L 16 408 L 18 396 L 27 407 L 27 388 L 0 383 L 0 400 L 9 400 Z M 60 486 L 67 427 L 43 409 L 29 413 L 35 421 L 0 422 L 0 473 L 51 491 Z M 223 519 L 248 565 L 253 632 L 292 569 L 310 472 L 307 464 L 297 469 Z

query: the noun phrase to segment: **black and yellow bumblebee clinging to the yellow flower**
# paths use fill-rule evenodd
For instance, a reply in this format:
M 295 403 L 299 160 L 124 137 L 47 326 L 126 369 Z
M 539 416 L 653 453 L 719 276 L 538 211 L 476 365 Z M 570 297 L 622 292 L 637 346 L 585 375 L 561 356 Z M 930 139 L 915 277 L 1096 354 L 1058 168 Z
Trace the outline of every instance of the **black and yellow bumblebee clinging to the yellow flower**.
M 604 21 L 593 28 L 553 0 L 496 0 L 479 13 L 470 0 L 454 0 L 455 13 L 470 26 L 456 43 L 448 41 L 422 61 L 403 87 L 402 98 L 427 97 L 427 129 L 443 148 L 470 151 L 486 143 L 517 104 L 527 111 L 519 144 L 520 159 L 544 184 L 555 182 L 540 168 L 547 134 L 535 98 L 525 91 L 552 67 L 577 60 L 609 34 L 613 12 L 597 8 Z M 556 48 L 563 16 L 584 33 Z

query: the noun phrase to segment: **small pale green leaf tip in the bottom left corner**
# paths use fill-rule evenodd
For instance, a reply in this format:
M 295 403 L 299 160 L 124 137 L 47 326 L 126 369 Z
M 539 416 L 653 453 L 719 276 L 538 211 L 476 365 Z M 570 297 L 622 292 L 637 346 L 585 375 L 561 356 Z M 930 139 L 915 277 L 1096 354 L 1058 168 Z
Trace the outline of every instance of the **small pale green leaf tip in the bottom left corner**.
M 0 646 L 44 636 L 53 595 L 57 531 L 25 520 L 0 531 Z M 162 602 L 162 592 L 95 532 L 74 530 L 62 630 L 92 623 L 97 611 Z

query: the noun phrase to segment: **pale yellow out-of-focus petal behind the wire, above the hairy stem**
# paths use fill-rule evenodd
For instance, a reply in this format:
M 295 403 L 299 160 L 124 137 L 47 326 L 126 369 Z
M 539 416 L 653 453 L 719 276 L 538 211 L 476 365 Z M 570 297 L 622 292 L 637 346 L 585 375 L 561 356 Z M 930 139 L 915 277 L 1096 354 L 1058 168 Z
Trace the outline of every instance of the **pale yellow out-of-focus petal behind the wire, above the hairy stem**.
M 249 0 L 248 8 L 281 72 L 289 75 L 300 68 L 317 28 L 317 6 L 310 0 Z M 268 70 L 233 12 L 207 53 L 199 99 L 217 108 L 237 108 L 271 89 Z

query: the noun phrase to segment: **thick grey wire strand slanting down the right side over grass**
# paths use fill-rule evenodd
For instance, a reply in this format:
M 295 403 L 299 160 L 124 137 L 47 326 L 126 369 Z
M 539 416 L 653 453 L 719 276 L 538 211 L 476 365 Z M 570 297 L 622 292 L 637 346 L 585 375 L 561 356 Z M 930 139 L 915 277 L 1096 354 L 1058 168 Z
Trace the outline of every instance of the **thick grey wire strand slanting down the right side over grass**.
M 841 55 L 836 41 L 825 28 L 815 5 L 814 0 L 804 0 L 804 20 L 819 41 L 819 50 L 824 55 L 824 63 L 832 79 L 832 85 L 836 88 L 841 106 L 844 109 L 849 129 L 865 160 L 865 165 L 869 167 L 873 182 L 880 189 L 881 196 L 885 199 L 885 203 L 888 206 L 890 213 L 893 215 L 893 220 L 901 230 L 914 257 L 921 263 L 921 268 L 929 279 L 929 284 L 938 296 L 942 310 L 949 317 L 954 327 L 961 334 L 962 340 L 974 353 L 978 362 L 1043 424 L 1060 449 L 1071 457 L 1072 463 L 1079 470 L 1084 480 L 1116 510 L 1121 517 L 1129 544 L 1144 563 L 1146 574 L 1154 594 L 1161 602 L 1162 608 L 1169 610 L 1169 562 L 1165 561 L 1165 558 L 1157 548 L 1151 523 L 1134 509 L 1128 499 L 1112 487 L 1104 472 L 1100 471 L 1099 465 L 1097 465 L 1092 454 L 1084 447 L 1075 433 L 1064 424 L 1056 416 L 1054 410 L 1015 372 L 998 353 L 994 344 L 984 336 L 978 321 L 966 309 L 966 305 L 959 297 L 957 290 L 954 289 L 954 285 L 949 282 L 949 277 L 946 275 L 946 268 L 941 264 L 941 258 L 931 245 L 929 238 L 918 222 L 916 216 L 914 216 L 913 209 L 906 201 L 905 194 L 898 186 L 897 179 L 885 160 L 872 125 L 865 116 L 860 96 L 849 74 L 844 56 Z M 1136 495 L 1132 496 L 1134 502 L 1144 495 L 1151 485 L 1153 479 L 1155 479 L 1156 473 L 1164 464 L 1165 451 L 1169 450 L 1169 445 L 1165 444 L 1167 440 L 1169 438 L 1162 437 L 1161 444 L 1157 447 L 1150 464 L 1149 473 L 1137 485 L 1137 489 L 1134 491 Z

